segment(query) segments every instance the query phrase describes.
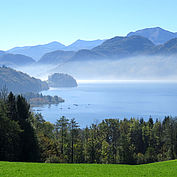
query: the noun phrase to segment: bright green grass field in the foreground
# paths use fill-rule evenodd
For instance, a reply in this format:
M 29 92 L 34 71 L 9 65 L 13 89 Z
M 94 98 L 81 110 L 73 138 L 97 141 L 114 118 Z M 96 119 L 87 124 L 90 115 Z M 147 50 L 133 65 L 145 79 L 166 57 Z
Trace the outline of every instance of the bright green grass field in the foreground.
M 177 160 L 146 165 L 0 162 L 2 177 L 175 177 Z

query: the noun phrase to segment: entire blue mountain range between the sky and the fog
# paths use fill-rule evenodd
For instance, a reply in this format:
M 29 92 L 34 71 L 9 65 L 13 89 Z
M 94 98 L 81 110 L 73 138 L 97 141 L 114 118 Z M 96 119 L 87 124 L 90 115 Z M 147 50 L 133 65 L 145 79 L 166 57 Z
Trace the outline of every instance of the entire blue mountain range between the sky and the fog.
M 0 51 L 0 64 L 61 64 L 69 61 L 120 59 L 136 55 L 176 55 L 177 33 L 159 27 L 146 28 L 108 40 L 77 40 L 69 46 L 59 42 L 15 47 Z

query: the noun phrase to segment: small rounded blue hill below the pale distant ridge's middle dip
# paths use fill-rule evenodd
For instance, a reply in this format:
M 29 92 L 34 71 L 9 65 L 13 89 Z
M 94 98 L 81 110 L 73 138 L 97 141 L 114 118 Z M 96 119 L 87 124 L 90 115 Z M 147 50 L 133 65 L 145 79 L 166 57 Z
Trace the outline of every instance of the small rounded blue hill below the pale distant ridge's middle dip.
M 57 50 L 54 52 L 46 53 L 39 61 L 39 64 L 59 64 L 67 62 L 75 52 Z

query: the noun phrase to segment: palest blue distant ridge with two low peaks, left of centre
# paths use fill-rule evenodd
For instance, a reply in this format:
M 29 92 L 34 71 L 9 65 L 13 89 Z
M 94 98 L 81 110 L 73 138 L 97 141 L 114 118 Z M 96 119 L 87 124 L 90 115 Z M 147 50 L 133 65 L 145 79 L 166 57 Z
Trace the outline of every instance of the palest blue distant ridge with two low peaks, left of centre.
M 81 49 L 92 49 L 102 44 L 104 41 L 105 40 L 94 40 L 94 41 L 77 40 L 69 46 L 65 46 L 59 42 L 51 42 L 44 45 L 15 47 L 8 50 L 7 52 L 12 54 L 26 55 L 38 61 L 41 59 L 43 55 L 49 52 L 53 52 L 56 50 L 78 51 Z

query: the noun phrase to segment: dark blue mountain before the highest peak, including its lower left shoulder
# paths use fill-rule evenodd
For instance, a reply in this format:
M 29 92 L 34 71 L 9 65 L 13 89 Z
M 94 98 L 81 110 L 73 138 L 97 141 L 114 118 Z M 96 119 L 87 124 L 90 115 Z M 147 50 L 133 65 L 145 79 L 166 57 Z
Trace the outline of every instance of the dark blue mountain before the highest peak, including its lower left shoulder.
M 71 61 L 87 61 L 100 59 L 119 59 L 132 55 L 147 54 L 154 44 L 141 36 L 114 37 L 92 50 L 80 50 Z

